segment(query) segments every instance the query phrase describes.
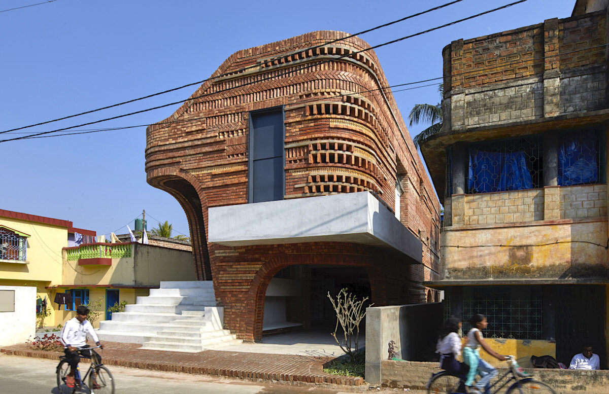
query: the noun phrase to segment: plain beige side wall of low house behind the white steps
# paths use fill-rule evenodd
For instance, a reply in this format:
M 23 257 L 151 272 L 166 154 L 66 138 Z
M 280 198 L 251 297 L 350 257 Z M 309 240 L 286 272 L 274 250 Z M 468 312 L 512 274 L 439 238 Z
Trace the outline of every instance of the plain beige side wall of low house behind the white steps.
M 135 284 L 158 286 L 161 280 L 196 280 L 192 252 L 149 245 L 135 249 Z

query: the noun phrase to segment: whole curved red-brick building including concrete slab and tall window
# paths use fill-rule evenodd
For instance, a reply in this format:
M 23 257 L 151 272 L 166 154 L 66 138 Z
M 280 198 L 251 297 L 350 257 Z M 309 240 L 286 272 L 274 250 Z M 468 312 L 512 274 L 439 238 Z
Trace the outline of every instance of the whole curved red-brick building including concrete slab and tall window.
M 197 279 L 245 340 L 328 320 L 344 286 L 376 305 L 438 298 L 421 285 L 437 198 L 376 55 L 346 36 L 240 50 L 147 129 L 147 181 L 185 210 Z

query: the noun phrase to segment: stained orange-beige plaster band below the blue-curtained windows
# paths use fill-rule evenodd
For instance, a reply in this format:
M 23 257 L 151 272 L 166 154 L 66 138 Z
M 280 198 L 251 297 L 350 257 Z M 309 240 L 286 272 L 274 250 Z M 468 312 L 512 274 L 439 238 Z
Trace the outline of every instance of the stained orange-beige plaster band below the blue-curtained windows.
M 441 271 L 446 279 L 558 278 L 565 273 L 598 277 L 605 276 L 609 266 L 602 247 L 607 244 L 606 217 L 445 227 L 441 238 Z

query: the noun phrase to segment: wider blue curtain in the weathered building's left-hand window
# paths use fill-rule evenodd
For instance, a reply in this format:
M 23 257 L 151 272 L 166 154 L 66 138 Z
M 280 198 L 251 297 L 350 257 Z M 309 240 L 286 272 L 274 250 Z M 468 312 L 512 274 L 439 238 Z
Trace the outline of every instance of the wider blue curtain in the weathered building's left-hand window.
M 533 180 L 524 152 L 470 150 L 468 186 L 473 193 L 532 188 Z

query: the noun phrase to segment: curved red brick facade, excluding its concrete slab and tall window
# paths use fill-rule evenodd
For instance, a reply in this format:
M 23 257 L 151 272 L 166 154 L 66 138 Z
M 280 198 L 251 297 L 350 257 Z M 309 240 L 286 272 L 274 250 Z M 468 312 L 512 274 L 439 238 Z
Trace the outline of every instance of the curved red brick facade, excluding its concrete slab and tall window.
M 379 90 L 388 83 L 376 55 L 353 54 L 369 47 L 356 37 L 311 49 L 344 36 L 313 32 L 236 52 L 217 78 L 147 129 L 147 181 L 185 209 L 198 278 L 213 278 L 227 328 L 245 339 L 259 338 L 269 273 L 283 266 L 362 266 L 377 305 L 424 301 L 420 282 L 437 272 L 439 204 L 391 92 Z M 274 106 L 285 114 L 284 198 L 368 190 L 393 210 L 398 181 L 400 219 L 423 241 L 423 266 L 395 266 L 391 255 L 341 243 L 206 243 L 208 208 L 248 202 L 248 114 Z M 387 297 L 388 288 L 398 296 Z

